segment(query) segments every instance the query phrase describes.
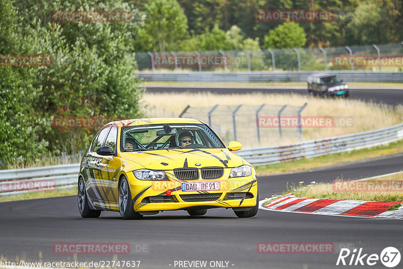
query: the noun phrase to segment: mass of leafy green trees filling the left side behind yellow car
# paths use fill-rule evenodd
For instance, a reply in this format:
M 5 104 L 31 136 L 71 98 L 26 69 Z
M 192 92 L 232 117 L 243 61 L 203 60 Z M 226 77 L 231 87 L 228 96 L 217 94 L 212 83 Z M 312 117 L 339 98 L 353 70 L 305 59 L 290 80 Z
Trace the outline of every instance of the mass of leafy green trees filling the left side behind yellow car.
M 127 10 L 119 1 L 91 5 L 59 1 L 0 4 L 0 54 L 49 54 L 50 66 L 0 67 L 0 138 L 5 162 L 27 161 L 50 151 L 85 150 L 94 129 L 51 128 L 54 116 L 141 115 L 143 88 L 130 56 L 138 22 L 54 23 L 55 10 Z M 15 127 L 13 127 L 15 126 Z M 4 140 L 4 143 L 3 143 Z

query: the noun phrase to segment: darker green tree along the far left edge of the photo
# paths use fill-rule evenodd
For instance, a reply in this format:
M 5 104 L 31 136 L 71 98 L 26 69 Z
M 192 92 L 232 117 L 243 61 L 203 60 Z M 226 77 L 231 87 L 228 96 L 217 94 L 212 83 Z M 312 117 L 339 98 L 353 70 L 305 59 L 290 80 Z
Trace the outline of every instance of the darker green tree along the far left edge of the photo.
M 29 37 L 27 32 L 31 32 Z M 11 0 L 0 3 L 0 55 L 33 54 L 38 36 L 21 24 Z M 2 63 L 4 61 L 2 60 Z M 38 94 L 33 87 L 41 67 L 0 66 L 0 168 L 32 161 L 46 152 L 40 137 L 44 120 L 31 105 Z M 48 124 L 49 125 L 49 124 Z

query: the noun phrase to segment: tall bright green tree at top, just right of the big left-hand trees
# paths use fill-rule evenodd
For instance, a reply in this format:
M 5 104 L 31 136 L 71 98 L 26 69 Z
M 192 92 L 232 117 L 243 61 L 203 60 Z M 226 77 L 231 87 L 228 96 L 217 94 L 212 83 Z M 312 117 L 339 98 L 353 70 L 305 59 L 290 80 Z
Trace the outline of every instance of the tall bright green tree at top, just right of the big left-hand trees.
M 136 35 L 136 51 L 177 50 L 188 37 L 187 18 L 176 0 L 151 0 L 146 21 Z

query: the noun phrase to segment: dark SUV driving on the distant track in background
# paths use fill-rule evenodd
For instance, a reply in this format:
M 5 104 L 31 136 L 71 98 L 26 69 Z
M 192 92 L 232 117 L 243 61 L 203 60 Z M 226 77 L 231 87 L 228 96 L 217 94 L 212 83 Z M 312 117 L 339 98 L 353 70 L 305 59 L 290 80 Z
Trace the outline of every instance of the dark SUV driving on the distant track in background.
M 308 94 L 324 98 L 349 96 L 349 87 L 335 74 L 313 74 L 308 77 Z

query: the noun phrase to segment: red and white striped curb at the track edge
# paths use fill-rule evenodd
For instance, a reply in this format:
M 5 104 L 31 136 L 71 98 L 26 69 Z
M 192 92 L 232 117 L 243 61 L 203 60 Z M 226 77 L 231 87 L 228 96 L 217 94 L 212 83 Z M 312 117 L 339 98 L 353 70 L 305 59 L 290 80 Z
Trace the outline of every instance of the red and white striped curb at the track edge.
M 267 205 L 263 205 L 269 201 Z M 361 200 L 338 200 L 321 198 L 300 198 L 286 194 L 259 201 L 259 209 L 282 212 L 358 216 L 375 218 L 403 218 L 403 206 L 397 210 L 387 209 L 397 202 Z

